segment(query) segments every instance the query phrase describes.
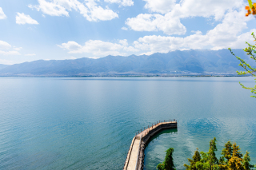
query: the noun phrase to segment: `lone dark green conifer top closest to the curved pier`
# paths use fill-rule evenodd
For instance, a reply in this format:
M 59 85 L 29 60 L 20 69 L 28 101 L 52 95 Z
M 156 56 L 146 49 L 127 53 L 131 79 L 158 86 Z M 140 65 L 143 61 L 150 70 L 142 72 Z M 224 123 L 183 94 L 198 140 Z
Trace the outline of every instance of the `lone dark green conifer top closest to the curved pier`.
M 174 166 L 174 159 L 173 159 L 173 152 L 174 148 L 169 148 L 166 151 L 166 159 L 163 161 L 163 163 L 158 164 L 157 169 L 158 170 L 176 170 Z

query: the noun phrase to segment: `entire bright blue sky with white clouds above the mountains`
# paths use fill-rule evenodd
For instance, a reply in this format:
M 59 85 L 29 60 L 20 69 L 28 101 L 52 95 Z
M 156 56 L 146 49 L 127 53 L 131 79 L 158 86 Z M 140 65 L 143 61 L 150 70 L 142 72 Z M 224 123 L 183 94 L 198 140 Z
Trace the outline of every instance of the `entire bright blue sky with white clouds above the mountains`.
M 190 49 L 243 49 L 244 0 L 0 1 L 0 64 Z

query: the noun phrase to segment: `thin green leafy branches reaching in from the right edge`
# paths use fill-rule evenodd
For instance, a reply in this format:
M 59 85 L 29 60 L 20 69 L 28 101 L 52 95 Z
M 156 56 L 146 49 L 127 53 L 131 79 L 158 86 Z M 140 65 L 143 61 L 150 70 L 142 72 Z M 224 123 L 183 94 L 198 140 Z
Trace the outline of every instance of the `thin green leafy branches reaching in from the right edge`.
M 256 37 L 254 35 L 254 33 L 251 34 L 254 38 L 254 41 L 256 41 Z M 248 47 L 246 47 L 245 49 L 243 49 L 247 55 L 250 56 L 250 58 L 252 58 L 254 61 L 256 61 L 256 57 L 255 57 L 255 53 L 256 53 L 256 46 L 255 45 L 250 45 L 248 42 L 246 42 L 246 44 L 248 45 Z M 230 48 L 229 48 L 230 49 Z M 256 73 L 256 69 L 253 68 L 252 66 L 250 66 L 248 63 L 246 63 L 246 61 L 244 61 L 242 58 L 236 56 L 232 50 L 230 49 L 230 53 L 232 53 L 232 55 L 234 55 L 235 57 L 237 57 L 237 59 L 240 61 L 240 66 L 242 66 L 243 69 L 245 69 L 246 71 L 237 71 L 238 75 L 246 75 L 246 74 L 251 74 L 253 77 L 256 77 L 255 73 Z M 256 82 L 256 79 L 254 79 Z M 241 82 L 239 82 L 240 85 L 242 85 Z M 256 94 L 256 85 L 254 85 L 254 87 L 246 87 L 245 85 L 242 85 L 242 88 L 244 89 L 250 89 L 251 93 L 254 93 L 254 95 Z M 256 96 L 250 96 L 250 97 L 256 97 Z

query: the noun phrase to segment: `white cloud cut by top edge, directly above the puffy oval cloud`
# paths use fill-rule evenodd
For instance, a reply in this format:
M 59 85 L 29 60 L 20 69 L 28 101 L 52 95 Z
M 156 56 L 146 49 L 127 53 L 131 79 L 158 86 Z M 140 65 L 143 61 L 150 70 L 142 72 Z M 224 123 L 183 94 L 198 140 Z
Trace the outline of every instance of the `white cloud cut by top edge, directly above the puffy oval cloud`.
M 176 0 L 143 0 L 146 1 L 146 5 L 144 6 L 146 9 L 150 10 L 150 12 L 158 12 L 161 14 L 166 14 L 170 12 L 175 6 Z

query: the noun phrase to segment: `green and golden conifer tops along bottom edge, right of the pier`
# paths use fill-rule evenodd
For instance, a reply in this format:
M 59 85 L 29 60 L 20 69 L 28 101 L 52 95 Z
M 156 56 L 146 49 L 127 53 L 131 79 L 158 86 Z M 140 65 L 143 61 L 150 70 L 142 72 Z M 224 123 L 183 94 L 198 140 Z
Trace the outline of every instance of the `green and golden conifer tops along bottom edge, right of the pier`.
M 218 159 L 215 152 L 217 140 L 214 137 L 210 140 L 210 147 L 208 152 L 199 152 L 198 148 L 194 152 L 192 159 L 188 158 L 189 164 L 184 164 L 186 170 L 251 170 L 256 168 L 256 164 L 250 164 L 250 154 L 240 152 L 239 145 L 235 142 L 232 144 L 229 141 L 224 144 L 222 148 L 221 157 Z M 158 164 L 158 170 L 176 170 L 172 154 L 174 148 L 169 148 L 166 151 L 166 158 L 162 164 Z

